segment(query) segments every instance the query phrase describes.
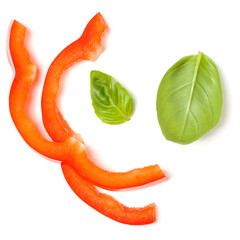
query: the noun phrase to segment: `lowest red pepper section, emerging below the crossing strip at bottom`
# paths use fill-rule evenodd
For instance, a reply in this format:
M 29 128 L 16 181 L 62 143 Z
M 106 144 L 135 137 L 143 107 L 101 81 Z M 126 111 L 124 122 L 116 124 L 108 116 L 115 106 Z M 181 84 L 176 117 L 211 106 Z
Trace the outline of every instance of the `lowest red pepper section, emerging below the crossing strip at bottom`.
M 113 197 L 100 193 L 92 184 L 83 180 L 73 168 L 62 163 L 64 177 L 73 192 L 82 201 L 103 215 L 125 224 L 142 225 L 156 220 L 156 206 L 149 204 L 145 207 L 126 207 Z

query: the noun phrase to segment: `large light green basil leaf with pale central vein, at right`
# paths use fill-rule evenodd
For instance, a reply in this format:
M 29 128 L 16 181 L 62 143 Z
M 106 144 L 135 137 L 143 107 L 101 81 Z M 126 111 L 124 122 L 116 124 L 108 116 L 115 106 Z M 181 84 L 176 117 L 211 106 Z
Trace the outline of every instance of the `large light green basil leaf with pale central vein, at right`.
M 180 59 L 164 75 L 157 116 L 166 139 L 188 144 L 215 127 L 222 113 L 222 88 L 215 63 L 202 52 Z

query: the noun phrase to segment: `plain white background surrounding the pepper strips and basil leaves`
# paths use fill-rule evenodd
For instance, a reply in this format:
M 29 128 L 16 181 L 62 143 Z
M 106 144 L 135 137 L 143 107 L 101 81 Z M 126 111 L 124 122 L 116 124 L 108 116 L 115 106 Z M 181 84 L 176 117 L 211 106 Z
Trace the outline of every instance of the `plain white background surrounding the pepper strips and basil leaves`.
M 64 2 L 64 3 L 63 3 Z M 0 239 L 240 239 L 240 14 L 239 1 L 2 1 L 0 6 Z M 60 165 L 32 151 L 8 110 L 12 70 L 6 55 L 9 24 L 29 31 L 39 67 L 34 117 L 40 122 L 45 73 L 55 56 L 101 12 L 109 26 L 96 62 L 79 63 L 63 77 L 60 109 L 81 133 L 99 165 L 125 171 L 158 163 L 168 179 L 140 189 L 110 192 L 127 206 L 155 202 L 157 222 L 117 223 L 71 191 Z M 223 114 L 217 127 L 190 145 L 163 137 L 157 122 L 158 85 L 176 61 L 204 52 L 218 69 Z M 89 74 L 115 77 L 132 95 L 130 121 L 111 126 L 94 114 Z M 105 191 L 107 192 L 107 191 Z

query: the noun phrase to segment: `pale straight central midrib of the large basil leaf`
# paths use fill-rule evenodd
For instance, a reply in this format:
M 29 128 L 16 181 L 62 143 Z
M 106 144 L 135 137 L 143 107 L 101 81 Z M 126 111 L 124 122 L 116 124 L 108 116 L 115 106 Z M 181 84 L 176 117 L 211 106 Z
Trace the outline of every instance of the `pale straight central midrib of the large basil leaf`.
M 198 56 L 197 56 L 197 62 L 196 62 L 196 66 L 195 66 L 195 69 L 194 69 L 194 75 L 193 75 L 193 80 L 192 80 L 192 87 L 191 87 L 191 91 L 190 91 L 188 105 L 187 105 L 187 108 L 186 108 L 186 117 L 185 117 L 185 120 L 184 120 L 182 133 L 180 135 L 180 141 L 182 140 L 184 131 L 186 129 L 187 120 L 188 120 L 188 116 L 189 116 L 189 113 L 190 113 L 190 107 L 191 107 L 192 98 L 193 98 L 193 92 L 194 92 L 194 88 L 195 88 L 196 82 L 197 82 L 197 75 L 198 75 L 198 70 L 199 70 L 199 66 L 200 66 L 200 63 L 201 63 L 202 55 L 203 55 L 203 53 L 199 52 Z

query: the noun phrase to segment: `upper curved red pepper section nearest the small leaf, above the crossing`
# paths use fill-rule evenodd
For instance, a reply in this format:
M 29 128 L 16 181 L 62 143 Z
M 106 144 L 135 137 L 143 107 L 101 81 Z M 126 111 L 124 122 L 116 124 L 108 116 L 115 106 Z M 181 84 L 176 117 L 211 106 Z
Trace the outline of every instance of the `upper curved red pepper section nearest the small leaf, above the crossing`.
M 64 48 L 48 69 L 42 92 L 42 119 L 45 129 L 55 142 L 63 142 L 74 134 L 56 106 L 61 75 L 79 61 L 97 59 L 102 52 L 101 40 L 107 28 L 102 15 L 96 14 L 81 37 Z

